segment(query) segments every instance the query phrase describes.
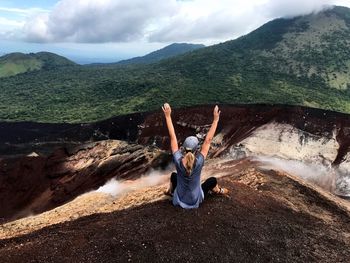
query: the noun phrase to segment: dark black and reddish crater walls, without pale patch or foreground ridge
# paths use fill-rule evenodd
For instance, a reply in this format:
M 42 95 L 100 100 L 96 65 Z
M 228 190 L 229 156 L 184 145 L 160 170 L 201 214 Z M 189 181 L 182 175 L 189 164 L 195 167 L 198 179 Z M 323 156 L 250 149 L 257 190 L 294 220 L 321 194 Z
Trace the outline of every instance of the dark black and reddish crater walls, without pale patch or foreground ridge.
M 223 105 L 221 110 L 218 132 L 223 141 L 214 145 L 211 157 L 223 156 L 232 145 L 272 121 L 324 138 L 331 137 L 336 129 L 340 147 L 334 165 L 340 164 L 349 151 L 350 119 L 346 114 L 282 105 Z M 211 116 L 212 106 L 174 109 L 179 141 L 188 135 L 204 134 Z M 40 155 L 0 156 L 0 223 L 62 205 L 110 178 L 137 178 L 150 167 L 164 168 L 171 161 L 165 152 L 161 156 L 154 154 L 157 151 L 153 146 L 169 148 L 160 111 L 90 124 L 1 123 L 0 135 L 4 143 L 0 143 L 0 153 L 27 154 L 37 150 Z M 83 143 L 106 138 L 132 142 L 113 152 L 109 152 L 108 141 Z M 146 149 L 146 145 L 152 147 Z

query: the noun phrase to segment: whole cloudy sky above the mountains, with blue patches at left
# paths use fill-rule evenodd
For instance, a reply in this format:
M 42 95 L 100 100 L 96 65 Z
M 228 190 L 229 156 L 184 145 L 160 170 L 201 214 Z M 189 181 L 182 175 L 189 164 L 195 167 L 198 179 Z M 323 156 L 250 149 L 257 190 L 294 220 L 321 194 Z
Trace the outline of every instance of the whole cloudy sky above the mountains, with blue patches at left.
M 45 50 L 112 62 L 174 42 L 223 42 L 334 4 L 350 0 L 0 0 L 0 55 Z

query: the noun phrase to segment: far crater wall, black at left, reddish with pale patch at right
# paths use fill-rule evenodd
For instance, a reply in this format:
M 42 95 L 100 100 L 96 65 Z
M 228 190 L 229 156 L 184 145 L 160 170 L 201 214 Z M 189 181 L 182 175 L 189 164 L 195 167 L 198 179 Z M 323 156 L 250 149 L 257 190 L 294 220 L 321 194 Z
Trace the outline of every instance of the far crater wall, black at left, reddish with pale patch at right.
M 180 143 L 189 135 L 204 138 L 212 121 L 212 108 L 198 106 L 173 110 L 174 126 Z M 326 161 L 339 165 L 346 160 L 349 152 L 350 118 L 346 114 L 271 105 L 223 105 L 221 110 L 214 142 L 216 147 L 211 152 L 215 157 L 232 151 L 233 146 L 237 148 L 248 137 L 251 138 L 244 142 L 244 145 L 250 145 L 248 150 L 261 152 L 262 149 L 256 147 L 260 144 L 259 140 L 264 143 L 269 140 L 267 153 L 278 154 L 281 151 L 281 156 L 293 159 L 311 158 L 311 155 L 320 153 Z M 2 156 L 33 152 L 49 155 L 58 147 L 69 148 L 108 139 L 169 149 L 168 132 L 160 111 L 120 116 L 90 124 L 1 123 L 0 134 Z M 253 144 L 256 145 L 254 149 Z M 314 147 L 317 149 L 311 149 Z M 290 148 L 288 154 L 287 148 Z

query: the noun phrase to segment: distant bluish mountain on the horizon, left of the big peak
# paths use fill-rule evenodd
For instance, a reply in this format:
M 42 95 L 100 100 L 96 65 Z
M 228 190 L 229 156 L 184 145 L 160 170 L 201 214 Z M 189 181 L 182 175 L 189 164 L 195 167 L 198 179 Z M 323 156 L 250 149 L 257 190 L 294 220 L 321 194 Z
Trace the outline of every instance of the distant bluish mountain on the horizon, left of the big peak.
M 174 43 L 157 51 L 151 52 L 145 56 L 122 60 L 117 62 L 116 64 L 150 64 L 158 62 L 162 59 L 171 58 L 203 47 L 205 46 L 201 44 Z

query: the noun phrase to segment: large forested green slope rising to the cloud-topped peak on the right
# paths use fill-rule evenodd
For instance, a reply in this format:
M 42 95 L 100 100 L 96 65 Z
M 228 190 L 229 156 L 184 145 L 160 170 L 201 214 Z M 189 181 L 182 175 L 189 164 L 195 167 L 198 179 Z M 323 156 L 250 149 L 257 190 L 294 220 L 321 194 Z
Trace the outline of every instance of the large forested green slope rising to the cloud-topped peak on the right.
M 150 65 L 36 71 L 0 82 L 0 119 L 80 122 L 204 103 L 306 105 L 350 113 L 350 9 L 271 21 Z

